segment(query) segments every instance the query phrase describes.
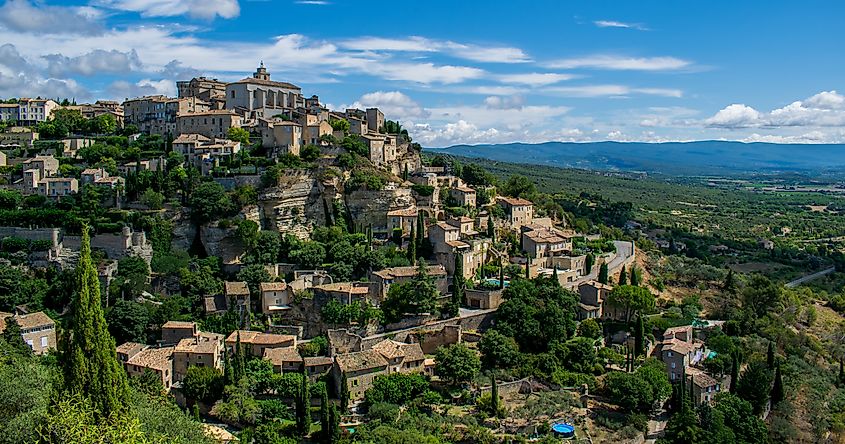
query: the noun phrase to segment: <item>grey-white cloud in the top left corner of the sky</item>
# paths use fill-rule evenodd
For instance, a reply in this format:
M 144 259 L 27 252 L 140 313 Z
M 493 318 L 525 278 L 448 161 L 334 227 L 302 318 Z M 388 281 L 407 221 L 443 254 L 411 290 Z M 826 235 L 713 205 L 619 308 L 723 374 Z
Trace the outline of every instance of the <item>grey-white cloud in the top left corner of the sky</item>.
M 98 34 L 99 11 L 89 7 L 35 5 L 29 0 L 7 0 L 0 6 L 0 27 L 32 34 Z

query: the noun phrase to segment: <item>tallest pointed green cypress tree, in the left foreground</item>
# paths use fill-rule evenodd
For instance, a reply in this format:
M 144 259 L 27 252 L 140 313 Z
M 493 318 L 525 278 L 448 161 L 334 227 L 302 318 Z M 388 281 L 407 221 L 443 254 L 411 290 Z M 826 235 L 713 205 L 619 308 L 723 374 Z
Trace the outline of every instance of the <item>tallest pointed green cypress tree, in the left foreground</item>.
M 114 338 L 103 315 L 100 281 L 91 260 L 87 225 L 82 226 L 76 289 L 59 360 L 65 375 L 65 390 L 88 398 L 99 418 L 120 414 L 127 408 L 129 384 L 123 366 L 117 361 Z

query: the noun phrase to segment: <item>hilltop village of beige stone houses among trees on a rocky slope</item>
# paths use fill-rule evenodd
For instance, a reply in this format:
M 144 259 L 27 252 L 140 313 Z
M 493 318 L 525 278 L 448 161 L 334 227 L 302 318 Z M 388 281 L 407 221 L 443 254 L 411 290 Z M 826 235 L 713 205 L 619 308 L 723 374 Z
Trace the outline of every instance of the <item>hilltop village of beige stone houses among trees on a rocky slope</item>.
M 379 109 L 327 109 L 263 64 L 177 89 L 0 104 L 0 266 L 17 276 L 0 330 L 32 352 L 61 348 L 62 282 L 90 263 L 117 361 L 218 442 L 353 439 L 412 403 L 478 417 L 455 442 L 586 439 L 608 402 L 642 438 L 672 383 L 700 405 L 736 379 L 709 346 L 723 321 L 646 329 L 635 243 L 529 200 L 524 178 L 423 156 Z

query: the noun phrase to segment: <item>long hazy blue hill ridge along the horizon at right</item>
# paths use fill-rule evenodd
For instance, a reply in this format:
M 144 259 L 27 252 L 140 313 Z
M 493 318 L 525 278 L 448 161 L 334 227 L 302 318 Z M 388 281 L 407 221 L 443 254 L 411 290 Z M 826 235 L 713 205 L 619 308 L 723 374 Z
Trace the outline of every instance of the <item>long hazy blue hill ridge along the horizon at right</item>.
M 589 170 L 670 175 L 809 173 L 845 175 L 845 145 L 722 141 L 670 143 L 509 143 L 455 145 L 428 153 Z

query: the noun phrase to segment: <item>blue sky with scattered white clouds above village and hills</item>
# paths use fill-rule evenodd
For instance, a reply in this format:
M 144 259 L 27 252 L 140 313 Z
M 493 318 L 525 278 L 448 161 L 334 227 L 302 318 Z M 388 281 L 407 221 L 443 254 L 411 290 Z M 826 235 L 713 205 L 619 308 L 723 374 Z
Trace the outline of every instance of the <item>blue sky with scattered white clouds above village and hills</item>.
M 4 0 L 0 97 L 197 75 L 379 107 L 426 147 L 845 143 L 845 2 Z

